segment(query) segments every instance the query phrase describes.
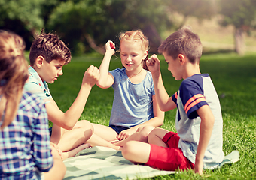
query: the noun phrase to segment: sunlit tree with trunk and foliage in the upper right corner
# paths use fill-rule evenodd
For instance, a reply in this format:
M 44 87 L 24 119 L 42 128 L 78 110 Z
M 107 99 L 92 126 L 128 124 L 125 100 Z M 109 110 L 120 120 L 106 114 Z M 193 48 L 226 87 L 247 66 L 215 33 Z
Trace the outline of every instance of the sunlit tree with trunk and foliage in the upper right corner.
M 234 26 L 235 50 L 239 55 L 243 55 L 245 33 L 256 25 L 256 0 L 221 0 L 219 5 L 223 15 L 221 25 Z

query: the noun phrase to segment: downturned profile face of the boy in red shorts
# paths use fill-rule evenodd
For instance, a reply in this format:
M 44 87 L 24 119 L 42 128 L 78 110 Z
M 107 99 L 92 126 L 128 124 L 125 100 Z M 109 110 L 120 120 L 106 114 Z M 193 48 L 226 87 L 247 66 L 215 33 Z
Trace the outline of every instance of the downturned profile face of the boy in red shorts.
M 172 76 L 175 77 L 175 80 L 182 79 L 181 63 L 178 59 L 173 59 L 172 56 L 169 56 L 166 52 L 163 52 L 163 56 L 166 59 L 168 64 L 168 70 L 171 71 Z

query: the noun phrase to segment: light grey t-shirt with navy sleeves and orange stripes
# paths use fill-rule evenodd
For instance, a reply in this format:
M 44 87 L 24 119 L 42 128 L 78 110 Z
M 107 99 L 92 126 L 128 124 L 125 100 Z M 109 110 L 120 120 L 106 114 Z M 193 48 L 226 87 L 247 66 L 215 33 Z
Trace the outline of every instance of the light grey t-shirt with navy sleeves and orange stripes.
M 195 163 L 200 137 L 201 118 L 197 110 L 209 105 L 215 117 L 212 136 L 203 158 L 205 169 L 214 169 L 224 159 L 222 151 L 223 120 L 221 105 L 209 74 L 195 74 L 185 79 L 172 100 L 177 104 L 176 130 L 180 137 L 178 148 L 192 163 Z

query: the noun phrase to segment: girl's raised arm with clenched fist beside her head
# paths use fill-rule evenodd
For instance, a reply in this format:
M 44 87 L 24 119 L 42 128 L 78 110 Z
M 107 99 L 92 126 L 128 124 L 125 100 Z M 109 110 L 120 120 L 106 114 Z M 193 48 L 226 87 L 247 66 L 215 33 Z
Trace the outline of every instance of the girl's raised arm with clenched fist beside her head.
M 112 44 L 112 45 L 111 45 Z M 96 83 L 99 88 L 107 89 L 114 83 L 114 77 L 108 73 L 109 63 L 112 55 L 114 54 L 114 49 L 111 49 L 114 43 L 110 40 L 105 44 L 105 55 L 102 60 L 102 64 L 99 66 L 99 81 Z

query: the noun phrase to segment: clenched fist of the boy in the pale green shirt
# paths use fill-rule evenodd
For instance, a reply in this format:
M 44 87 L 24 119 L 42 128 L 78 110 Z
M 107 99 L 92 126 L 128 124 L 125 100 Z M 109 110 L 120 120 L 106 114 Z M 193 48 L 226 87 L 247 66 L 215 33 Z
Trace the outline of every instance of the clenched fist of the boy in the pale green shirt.
M 90 65 L 90 67 L 84 73 L 83 84 L 87 84 L 93 87 L 98 80 L 99 80 L 99 69 L 93 65 Z

